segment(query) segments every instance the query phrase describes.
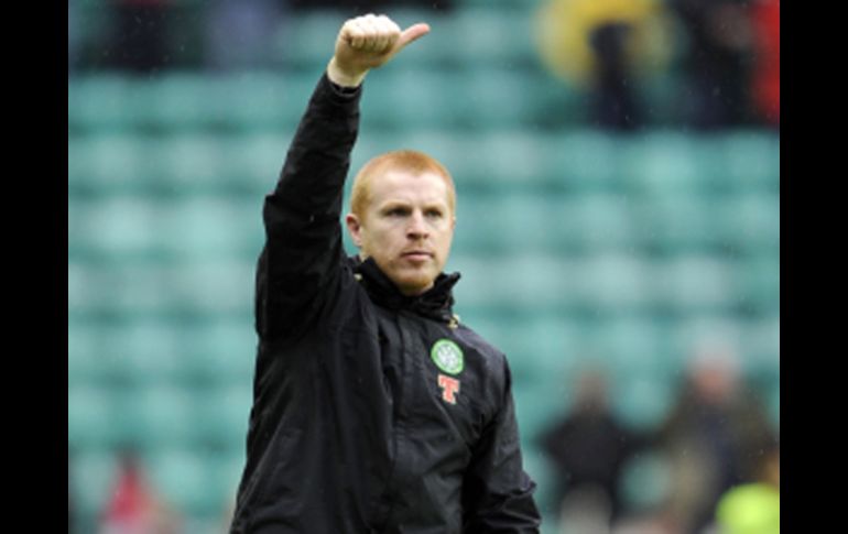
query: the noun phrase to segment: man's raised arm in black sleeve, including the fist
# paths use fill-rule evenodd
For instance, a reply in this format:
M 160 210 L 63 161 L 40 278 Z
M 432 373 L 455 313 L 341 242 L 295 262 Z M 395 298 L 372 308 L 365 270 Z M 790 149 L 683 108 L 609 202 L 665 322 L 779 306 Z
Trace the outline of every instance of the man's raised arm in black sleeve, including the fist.
M 265 197 L 265 247 L 259 260 L 256 327 L 271 340 L 295 334 L 320 310 L 344 258 L 341 200 L 359 129 L 360 85 L 409 43 L 430 31 L 405 31 L 387 17 L 350 19 Z

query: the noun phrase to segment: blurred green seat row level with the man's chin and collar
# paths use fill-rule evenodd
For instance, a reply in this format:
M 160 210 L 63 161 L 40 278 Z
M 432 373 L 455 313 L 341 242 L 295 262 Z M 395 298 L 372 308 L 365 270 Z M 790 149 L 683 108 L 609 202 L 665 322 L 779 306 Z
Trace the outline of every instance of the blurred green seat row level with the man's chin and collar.
M 779 306 L 776 257 L 752 264 L 704 254 L 664 260 L 602 252 L 578 258 L 523 253 L 454 255 L 464 280 L 456 294 L 470 308 L 638 309 L 670 313 L 763 313 Z M 254 261 L 68 263 L 69 314 L 250 314 Z

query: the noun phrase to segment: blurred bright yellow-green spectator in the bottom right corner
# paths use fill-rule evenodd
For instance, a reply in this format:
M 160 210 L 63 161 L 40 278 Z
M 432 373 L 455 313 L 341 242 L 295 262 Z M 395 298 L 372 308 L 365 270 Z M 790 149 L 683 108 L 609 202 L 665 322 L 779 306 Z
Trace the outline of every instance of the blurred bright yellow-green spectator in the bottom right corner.
M 780 444 L 770 440 L 762 451 L 758 477 L 726 492 L 716 509 L 721 534 L 780 532 Z

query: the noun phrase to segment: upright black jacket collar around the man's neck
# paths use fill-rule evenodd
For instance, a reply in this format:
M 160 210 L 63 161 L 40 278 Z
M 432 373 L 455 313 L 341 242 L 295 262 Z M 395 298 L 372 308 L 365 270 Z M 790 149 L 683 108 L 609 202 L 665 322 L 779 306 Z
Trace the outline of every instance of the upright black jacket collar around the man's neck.
M 459 281 L 459 273 L 441 273 L 433 287 L 421 295 L 406 296 L 383 273 L 373 258 L 362 261 L 358 255 L 350 258 L 357 280 L 376 304 L 389 309 L 407 309 L 431 319 L 450 323 L 454 319 L 453 287 Z

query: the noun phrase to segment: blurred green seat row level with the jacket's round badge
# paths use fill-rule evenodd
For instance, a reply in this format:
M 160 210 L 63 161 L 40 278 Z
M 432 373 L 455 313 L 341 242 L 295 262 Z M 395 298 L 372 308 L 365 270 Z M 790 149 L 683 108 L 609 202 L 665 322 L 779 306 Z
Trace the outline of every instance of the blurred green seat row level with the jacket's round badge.
M 697 344 L 721 338 L 744 355 L 749 370 L 776 369 L 780 315 L 684 314 L 675 319 L 618 313 L 525 314 L 497 317 L 465 313 L 463 323 L 515 358 L 514 368 L 540 377 L 599 358 L 616 369 L 677 372 Z M 691 317 L 689 317 L 691 316 Z M 166 316 L 105 322 L 77 317 L 68 324 L 68 381 L 224 386 L 248 384 L 257 338 L 252 317 L 177 322 Z

